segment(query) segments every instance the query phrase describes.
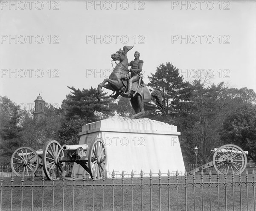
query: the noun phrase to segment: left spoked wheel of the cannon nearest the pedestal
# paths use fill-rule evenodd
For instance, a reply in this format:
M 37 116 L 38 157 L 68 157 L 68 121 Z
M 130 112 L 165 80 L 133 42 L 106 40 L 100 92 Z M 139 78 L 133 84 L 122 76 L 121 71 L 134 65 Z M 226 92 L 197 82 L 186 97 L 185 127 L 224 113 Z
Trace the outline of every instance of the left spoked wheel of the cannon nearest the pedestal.
M 43 152 L 43 169 L 45 176 L 52 180 L 54 174 L 56 177 L 60 177 L 65 164 L 59 162 L 59 157 L 64 156 L 64 152 L 61 145 L 55 141 L 49 141 L 44 146 Z

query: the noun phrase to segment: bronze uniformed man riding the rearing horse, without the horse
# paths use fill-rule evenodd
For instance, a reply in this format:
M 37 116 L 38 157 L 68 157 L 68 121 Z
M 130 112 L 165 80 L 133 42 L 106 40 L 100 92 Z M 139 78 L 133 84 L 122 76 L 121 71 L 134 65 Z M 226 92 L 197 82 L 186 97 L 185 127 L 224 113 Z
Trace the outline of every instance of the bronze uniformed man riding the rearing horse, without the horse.
M 134 61 L 128 63 L 128 66 L 131 66 L 131 69 L 129 70 L 131 72 L 131 78 L 128 80 L 128 90 L 123 95 L 127 95 L 129 97 L 131 95 L 132 83 L 139 81 L 140 72 L 142 71 L 143 61 L 140 60 L 139 52 L 135 51 Z

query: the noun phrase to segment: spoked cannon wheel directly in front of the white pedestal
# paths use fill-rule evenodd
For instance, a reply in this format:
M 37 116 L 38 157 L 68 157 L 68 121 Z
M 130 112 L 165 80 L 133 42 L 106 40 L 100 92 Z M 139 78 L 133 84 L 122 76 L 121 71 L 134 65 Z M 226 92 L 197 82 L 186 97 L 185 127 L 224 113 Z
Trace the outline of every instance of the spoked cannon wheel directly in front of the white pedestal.
M 102 139 L 96 139 L 91 145 L 88 157 L 89 173 L 97 178 L 106 173 L 107 152 Z M 104 175 L 105 176 L 105 175 Z

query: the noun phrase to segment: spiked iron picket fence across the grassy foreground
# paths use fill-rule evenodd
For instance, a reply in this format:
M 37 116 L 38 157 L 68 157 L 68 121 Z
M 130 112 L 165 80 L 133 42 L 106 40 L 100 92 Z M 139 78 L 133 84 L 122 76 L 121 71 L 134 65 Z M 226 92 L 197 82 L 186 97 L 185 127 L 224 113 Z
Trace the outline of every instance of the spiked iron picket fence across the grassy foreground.
M 95 174 L 96 175 L 96 174 Z M 256 211 L 255 173 L 157 176 L 151 172 L 78 180 L 0 175 L 0 210 L 14 211 Z

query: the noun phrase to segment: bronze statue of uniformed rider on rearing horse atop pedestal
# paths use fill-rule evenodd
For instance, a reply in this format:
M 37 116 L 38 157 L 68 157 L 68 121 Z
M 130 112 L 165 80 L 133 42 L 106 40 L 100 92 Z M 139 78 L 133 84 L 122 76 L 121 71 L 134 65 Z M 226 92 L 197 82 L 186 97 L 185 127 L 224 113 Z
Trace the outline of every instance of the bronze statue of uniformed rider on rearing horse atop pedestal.
M 102 87 L 112 90 L 113 94 L 110 96 L 114 99 L 119 95 L 125 98 L 131 98 L 131 105 L 136 114 L 130 118 L 137 119 L 145 115 L 144 103 L 148 103 L 151 97 L 154 97 L 158 109 L 163 114 L 166 114 L 161 93 L 158 90 L 149 91 L 148 87 L 142 81 L 142 74 L 140 72 L 142 71 L 143 61 L 139 59 L 139 52 L 135 52 L 134 61 L 128 63 L 127 52 L 133 47 L 124 46 L 123 50 L 120 48 L 119 51 L 111 54 L 112 61 L 119 61 L 119 63 L 115 66 L 109 78 L 106 78 L 98 85 L 96 91 L 97 99 L 100 100 L 99 94 L 102 92 Z M 131 66 L 131 74 L 129 74 L 128 66 Z M 116 92 L 115 95 L 114 92 Z

